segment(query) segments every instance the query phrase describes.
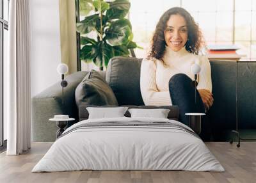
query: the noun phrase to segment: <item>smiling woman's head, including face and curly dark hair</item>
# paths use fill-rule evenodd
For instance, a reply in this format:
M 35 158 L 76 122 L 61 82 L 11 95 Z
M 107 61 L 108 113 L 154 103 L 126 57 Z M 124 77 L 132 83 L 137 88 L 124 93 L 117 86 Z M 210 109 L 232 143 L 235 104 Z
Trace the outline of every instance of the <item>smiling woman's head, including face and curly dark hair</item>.
M 198 54 L 203 45 L 202 33 L 193 17 L 183 10 L 171 8 L 162 15 L 152 38 L 150 56 L 161 59 L 166 45 L 173 51 L 179 51 L 185 46 L 188 52 Z

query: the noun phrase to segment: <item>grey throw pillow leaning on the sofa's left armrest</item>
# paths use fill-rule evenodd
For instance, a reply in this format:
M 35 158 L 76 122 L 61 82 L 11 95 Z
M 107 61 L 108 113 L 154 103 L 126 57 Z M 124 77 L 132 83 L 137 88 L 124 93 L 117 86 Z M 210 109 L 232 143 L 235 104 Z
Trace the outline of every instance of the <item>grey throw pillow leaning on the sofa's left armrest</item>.
M 92 70 L 76 88 L 76 105 L 117 106 L 116 97 L 100 74 Z

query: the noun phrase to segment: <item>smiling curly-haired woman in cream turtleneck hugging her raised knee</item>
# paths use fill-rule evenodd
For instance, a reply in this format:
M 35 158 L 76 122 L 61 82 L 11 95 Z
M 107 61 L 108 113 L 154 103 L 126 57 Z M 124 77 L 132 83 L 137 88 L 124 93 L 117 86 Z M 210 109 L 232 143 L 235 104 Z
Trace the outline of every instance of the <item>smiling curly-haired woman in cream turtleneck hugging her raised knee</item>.
M 140 87 L 146 105 L 179 106 L 180 121 L 186 125 L 189 119 L 185 113 L 205 113 L 212 106 L 210 63 L 198 56 L 202 45 L 202 34 L 184 8 L 174 7 L 163 13 L 150 52 L 141 63 Z M 193 65 L 201 67 L 197 88 L 191 84 Z

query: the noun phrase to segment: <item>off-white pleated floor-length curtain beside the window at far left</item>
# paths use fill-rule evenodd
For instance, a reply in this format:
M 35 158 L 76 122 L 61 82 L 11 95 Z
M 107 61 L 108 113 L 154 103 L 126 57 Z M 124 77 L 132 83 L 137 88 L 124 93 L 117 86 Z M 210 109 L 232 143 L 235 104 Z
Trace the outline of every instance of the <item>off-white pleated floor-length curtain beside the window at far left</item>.
M 6 154 L 17 155 L 31 145 L 29 0 L 11 0 L 9 19 Z

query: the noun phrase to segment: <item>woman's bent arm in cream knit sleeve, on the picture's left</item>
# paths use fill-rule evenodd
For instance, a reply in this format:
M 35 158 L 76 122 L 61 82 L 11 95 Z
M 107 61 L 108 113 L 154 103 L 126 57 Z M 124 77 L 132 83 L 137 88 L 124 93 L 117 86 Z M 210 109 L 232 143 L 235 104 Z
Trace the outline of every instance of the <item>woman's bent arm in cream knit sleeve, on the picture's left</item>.
M 156 86 L 156 63 L 144 59 L 141 63 L 140 90 L 145 105 L 172 105 L 170 93 L 159 92 Z

